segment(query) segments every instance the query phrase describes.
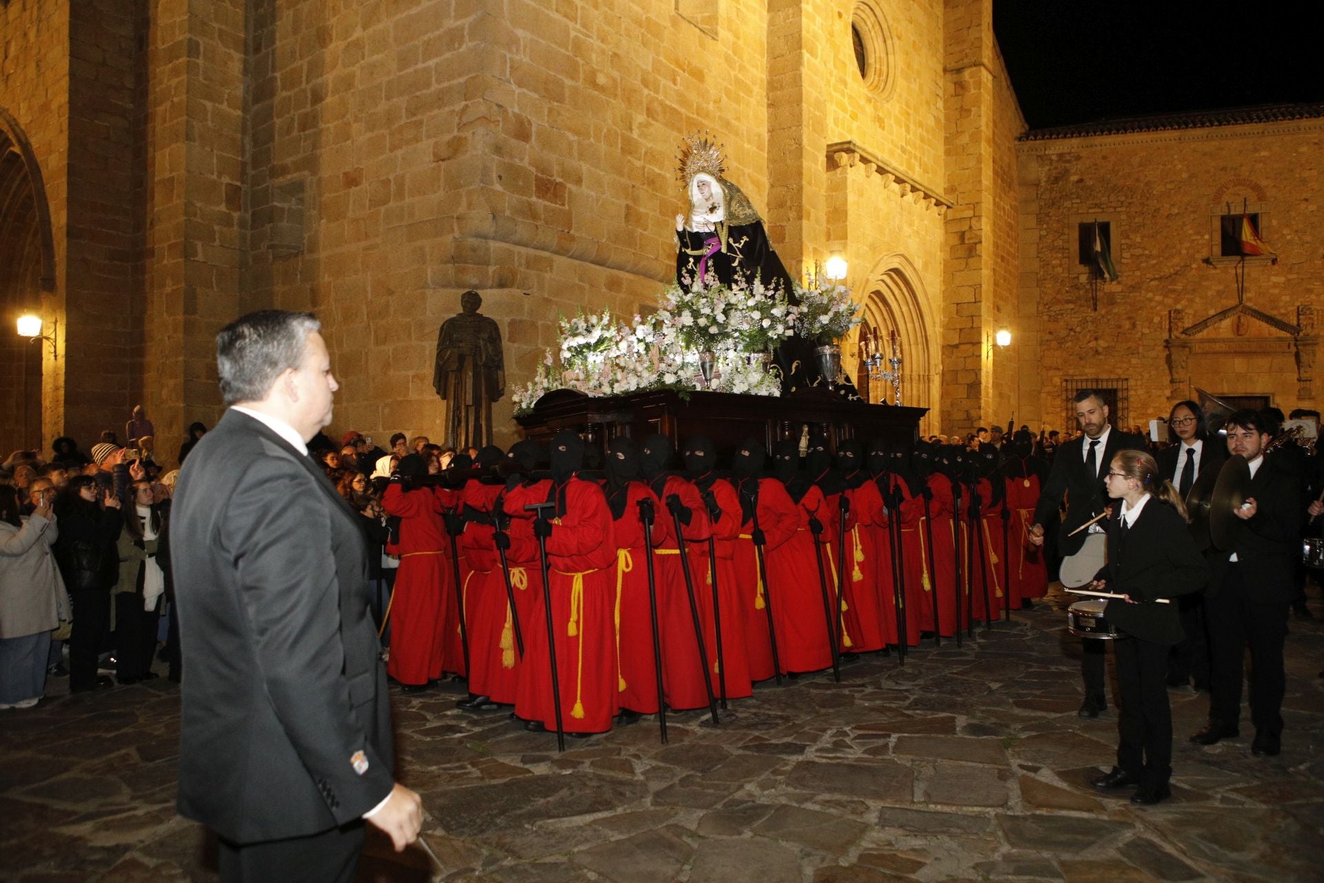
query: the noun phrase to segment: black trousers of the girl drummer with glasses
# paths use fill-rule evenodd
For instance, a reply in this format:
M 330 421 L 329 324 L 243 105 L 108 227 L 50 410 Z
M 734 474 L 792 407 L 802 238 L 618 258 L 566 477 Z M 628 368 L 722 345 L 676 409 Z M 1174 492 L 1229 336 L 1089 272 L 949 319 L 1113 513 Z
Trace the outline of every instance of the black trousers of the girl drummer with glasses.
M 1127 638 L 1113 641 L 1121 715 L 1117 769 L 1141 788 L 1172 777 L 1172 708 L 1168 704 L 1168 645 Z

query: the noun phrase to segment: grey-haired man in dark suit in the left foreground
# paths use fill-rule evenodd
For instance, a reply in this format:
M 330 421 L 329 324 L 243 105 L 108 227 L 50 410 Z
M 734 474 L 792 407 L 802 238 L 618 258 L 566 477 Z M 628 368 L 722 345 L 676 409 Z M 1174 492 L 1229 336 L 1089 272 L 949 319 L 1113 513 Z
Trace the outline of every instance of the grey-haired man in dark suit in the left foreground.
M 393 781 L 391 710 L 356 516 L 308 457 L 336 391 L 311 314 L 221 330 L 230 409 L 171 516 L 184 651 L 179 812 L 220 837 L 222 880 L 352 880 L 368 819 L 396 850 L 418 796 Z

